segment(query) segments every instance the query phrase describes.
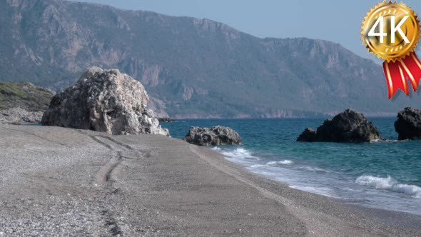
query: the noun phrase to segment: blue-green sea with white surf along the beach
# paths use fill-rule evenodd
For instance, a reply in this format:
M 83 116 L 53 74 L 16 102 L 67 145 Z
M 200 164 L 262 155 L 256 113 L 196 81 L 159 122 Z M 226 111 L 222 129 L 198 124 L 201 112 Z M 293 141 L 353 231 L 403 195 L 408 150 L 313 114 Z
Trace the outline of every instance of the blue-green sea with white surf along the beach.
M 386 141 L 295 141 L 324 119 L 180 119 L 161 123 L 183 138 L 191 126 L 229 126 L 240 146 L 211 146 L 260 176 L 345 203 L 421 215 L 421 141 L 397 141 L 396 118 L 368 118 Z

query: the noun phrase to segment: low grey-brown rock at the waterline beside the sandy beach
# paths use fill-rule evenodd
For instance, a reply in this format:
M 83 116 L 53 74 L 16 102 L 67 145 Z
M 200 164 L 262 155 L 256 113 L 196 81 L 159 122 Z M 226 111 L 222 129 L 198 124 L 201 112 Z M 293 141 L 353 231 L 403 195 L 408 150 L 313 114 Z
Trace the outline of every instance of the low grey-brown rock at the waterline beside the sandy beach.
M 191 127 L 184 140 L 198 146 L 241 144 L 240 135 L 232 128 L 224 126 L 213 126 L 212 128 Z

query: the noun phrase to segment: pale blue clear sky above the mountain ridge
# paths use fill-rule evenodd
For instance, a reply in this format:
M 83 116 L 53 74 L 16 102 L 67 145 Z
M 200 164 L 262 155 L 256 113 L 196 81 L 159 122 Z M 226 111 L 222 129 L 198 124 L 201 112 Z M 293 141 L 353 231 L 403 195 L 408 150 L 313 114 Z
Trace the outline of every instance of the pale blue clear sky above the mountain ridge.
M 360 39 L 360 26 L 372 0 L 78 0 L 120 9 L 155 11 L 171 16 L 193 16 L 228 24 L 261 38 L 325 39 L 334 41 L 367 59 Z M 405 0 L 415 13 L 420 0 Z M 419 45 L 421 47 L 421 45 Z

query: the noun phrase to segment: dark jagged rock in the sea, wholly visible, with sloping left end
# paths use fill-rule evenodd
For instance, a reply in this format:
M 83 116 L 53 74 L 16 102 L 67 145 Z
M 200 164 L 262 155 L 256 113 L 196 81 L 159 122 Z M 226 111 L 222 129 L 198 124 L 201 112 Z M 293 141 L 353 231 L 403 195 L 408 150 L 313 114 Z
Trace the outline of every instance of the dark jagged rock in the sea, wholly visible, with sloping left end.
M 363 114 L 347 109 L 332 120 L 325 120 L 316 132 L 306 128 L 297 141 L 369 142 L 376 139 L 382 139 L 377 128 Z

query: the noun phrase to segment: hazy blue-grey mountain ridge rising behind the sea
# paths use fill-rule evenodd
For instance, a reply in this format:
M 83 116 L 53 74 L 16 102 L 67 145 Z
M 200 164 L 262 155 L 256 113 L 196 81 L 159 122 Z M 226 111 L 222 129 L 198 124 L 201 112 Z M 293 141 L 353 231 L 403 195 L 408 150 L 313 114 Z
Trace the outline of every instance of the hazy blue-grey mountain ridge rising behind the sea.
M 0 81 L 57 90 L 88 66 L 117 68 L 175 118 L 388 115 L 420 96 L 389 101 L 382 67 L 330 41 L 98 4 L 0 0 L 0 41 Z

